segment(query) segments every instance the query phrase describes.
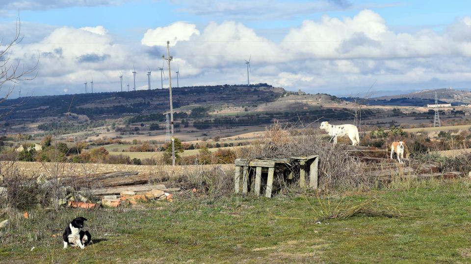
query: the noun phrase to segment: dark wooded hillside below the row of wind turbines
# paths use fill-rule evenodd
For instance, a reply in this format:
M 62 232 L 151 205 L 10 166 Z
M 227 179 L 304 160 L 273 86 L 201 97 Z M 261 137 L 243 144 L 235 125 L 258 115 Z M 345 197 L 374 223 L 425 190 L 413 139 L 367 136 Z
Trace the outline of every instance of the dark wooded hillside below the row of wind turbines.
M 273 102 L 286 91 L 267 84 L 219 85 L 173 88 L 173 107 L 186 105 L 245 105 Z M 130 92 L 100 92 L 8 99 L 3 106 L 24 104 L 14 108 L 4 120 L 37 120 L 65 113 L 86 115 L 92 120 L 119 118 L 135 114 L 163 113 L 170 109 L 168 89 Z M 69 110 L 70 108 L 70 110 Z M 11 109 L 0 109 L 6 113 Z

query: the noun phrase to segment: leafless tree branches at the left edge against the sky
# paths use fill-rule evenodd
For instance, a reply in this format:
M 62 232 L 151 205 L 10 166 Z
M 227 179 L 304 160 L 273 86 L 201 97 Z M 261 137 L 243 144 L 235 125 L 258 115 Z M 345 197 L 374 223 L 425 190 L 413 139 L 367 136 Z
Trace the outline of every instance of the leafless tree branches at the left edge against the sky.
M 0 109 L 8 109 L 6 112 L 0 114 L 0 117 L 9 114 L 15 107 L 21 106 L 26 102 L 23 99 L 14 104 L 2 105 L 8 97 L 10 97 L 18 84 L 22 81 L 33 80 L 37 76 L 37 73 L 34 74 L 34 72 L 39 63 L 39 57 L 34 66 L 26 67 L 21 60 L 14 60 L 11 56 L 14 46 L 19 44 L 23 39 L 20 35 L 20 31 L 21 21 L 18 16 L 18 19 L 16 20 L 15 36 L 13 39 L 6 44 L 4 44 L 3 38 L 0 40 L 0 91 L 3 89 L 5 92 L 5 96 L 0 99 Z M 34 76 L 32 76 L 33 74 Z

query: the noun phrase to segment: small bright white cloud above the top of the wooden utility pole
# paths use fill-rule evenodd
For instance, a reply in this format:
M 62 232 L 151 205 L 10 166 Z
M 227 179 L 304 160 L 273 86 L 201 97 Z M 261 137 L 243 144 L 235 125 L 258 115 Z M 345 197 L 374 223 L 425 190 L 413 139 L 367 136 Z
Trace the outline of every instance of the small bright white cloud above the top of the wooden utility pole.
M 176 22 L 168 26 L 148 29 L 141 40 L 147 46 L 166 46 L 167 41 L 174 46 L 180 41 L 188 41 L 192 36 L 200 35 L 196 25 L 186 22 Z

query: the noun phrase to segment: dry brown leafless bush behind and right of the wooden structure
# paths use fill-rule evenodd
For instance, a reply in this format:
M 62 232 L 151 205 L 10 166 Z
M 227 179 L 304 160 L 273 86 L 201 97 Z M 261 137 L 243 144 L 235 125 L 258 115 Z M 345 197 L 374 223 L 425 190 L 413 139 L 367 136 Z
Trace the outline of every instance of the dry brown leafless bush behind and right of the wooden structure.
M 297 129 L 297 136 L 288 136 L 291 129 L 281 129 L 279 124 L 271 127 L 260 142 L 240 150 L 246 159 L 289 158 L 291 156 L 319 155 L 319 188 L 350 189 L 373 187 L 375 180 L 365 174 L 365 165 L 349 156 L 328 139 Z M 310 130 L 308 130 L 310 132 Z

